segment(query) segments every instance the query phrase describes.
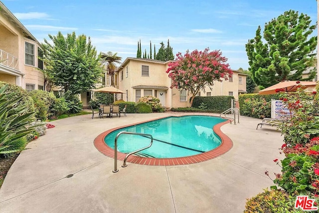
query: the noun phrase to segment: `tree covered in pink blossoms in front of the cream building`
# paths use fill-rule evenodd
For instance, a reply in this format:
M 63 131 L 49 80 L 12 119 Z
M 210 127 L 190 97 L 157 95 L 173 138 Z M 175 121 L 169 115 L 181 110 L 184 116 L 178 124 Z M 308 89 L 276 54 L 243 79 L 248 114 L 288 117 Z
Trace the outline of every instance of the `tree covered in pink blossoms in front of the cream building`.
M 205 91 L 205 86 L 211 88 L 214 81 L 227 80 L 233 74 L 226 62 L 227 58 L 219 50 L 209 52 L 209 48 L 204 51 L 195 49 L 191 53 L 187 50 L 184 56 L 178 52 L 176 60 L 170 62 L 166 70 L 172 80 L 170 88 L 185 89 L 187 95 L 190 93 L 191 107 L 195 95 L 200 90 Z

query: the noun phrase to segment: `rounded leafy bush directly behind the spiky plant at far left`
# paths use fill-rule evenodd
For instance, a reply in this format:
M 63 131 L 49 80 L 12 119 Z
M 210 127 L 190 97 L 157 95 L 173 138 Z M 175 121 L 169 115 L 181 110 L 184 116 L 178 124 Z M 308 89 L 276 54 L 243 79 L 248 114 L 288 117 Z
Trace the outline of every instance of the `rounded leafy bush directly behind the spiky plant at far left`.
M 25 89 L 14 84 L 0 81 L 0 88 L 5 85 L 7 85 L 5 90 L 6 93 L 14 93 L 16 97 L 21 97 L 19 102 L 21 102 L 21 104 L 25 104 L 25 107 L 28 109 L 27 112 L 35 111 L 33 99 L 28 95 L 28 92 Z

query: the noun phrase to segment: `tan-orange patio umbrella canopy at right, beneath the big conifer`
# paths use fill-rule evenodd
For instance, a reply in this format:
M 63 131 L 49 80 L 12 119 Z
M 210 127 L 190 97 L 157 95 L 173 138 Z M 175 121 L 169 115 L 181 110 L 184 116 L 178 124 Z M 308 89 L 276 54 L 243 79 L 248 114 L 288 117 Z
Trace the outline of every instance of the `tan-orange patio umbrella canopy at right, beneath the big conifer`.
M 306 89 L 309 87 L 315 87 L 316 84 L 317 82 L 313 82 L 313 81 L 282 81 L 282 82 L 279 82 L 278 84 L 275 84 L 263 90 L 260 90 L 258 94 L 260 95 L 276 94 L 277 93 L 276 90 L 278 89 L 283 89 L 285 92 L 296 92 L 298 85 L 301 85 L 303 89 Z

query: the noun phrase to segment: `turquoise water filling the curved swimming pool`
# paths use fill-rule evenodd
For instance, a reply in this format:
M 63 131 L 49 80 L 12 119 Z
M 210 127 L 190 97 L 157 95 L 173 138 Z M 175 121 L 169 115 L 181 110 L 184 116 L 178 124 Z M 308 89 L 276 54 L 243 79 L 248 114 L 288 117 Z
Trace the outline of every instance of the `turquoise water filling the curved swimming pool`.
M 114 140 L 119 132 L 151 134 L 153 145 L 135 155 L 154 158 L 177 158 L 197 155 L 217 148 L 221 144 L 213 126 L 225 121 L 211 116 L 168 117 L 143 124 L 118 129 L 108 134 L 104 141 L 114 149 Z M 122 134 L 118 138 L 118 151 L 130 153 L 146 147 L 151 140 L 138 135 Z

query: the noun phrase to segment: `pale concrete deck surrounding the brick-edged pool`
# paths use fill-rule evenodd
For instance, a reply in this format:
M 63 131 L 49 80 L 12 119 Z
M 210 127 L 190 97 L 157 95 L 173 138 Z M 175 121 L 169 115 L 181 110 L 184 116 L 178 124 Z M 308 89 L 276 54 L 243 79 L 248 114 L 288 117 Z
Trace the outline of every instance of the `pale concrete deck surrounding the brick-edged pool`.
M 273 160 L 284 158 L 278 150 L 283 137 L 275 127 L 256 130 L 260 119 L 241 116 L 239 124 L 223 125 L 233 147 L 189 165 L 122 168 L 118 161 L 120 171 L 113 173 L 114 159 L 93 145 L 114 127 L 181 114 L 202 113 L 82 115 L 50 122 L 55 128 L 30 142 L 11 166 L 0 189 L 0 212 L 239 213 L 247 198 L 274 185 L 264 172 L 280 172 Z

